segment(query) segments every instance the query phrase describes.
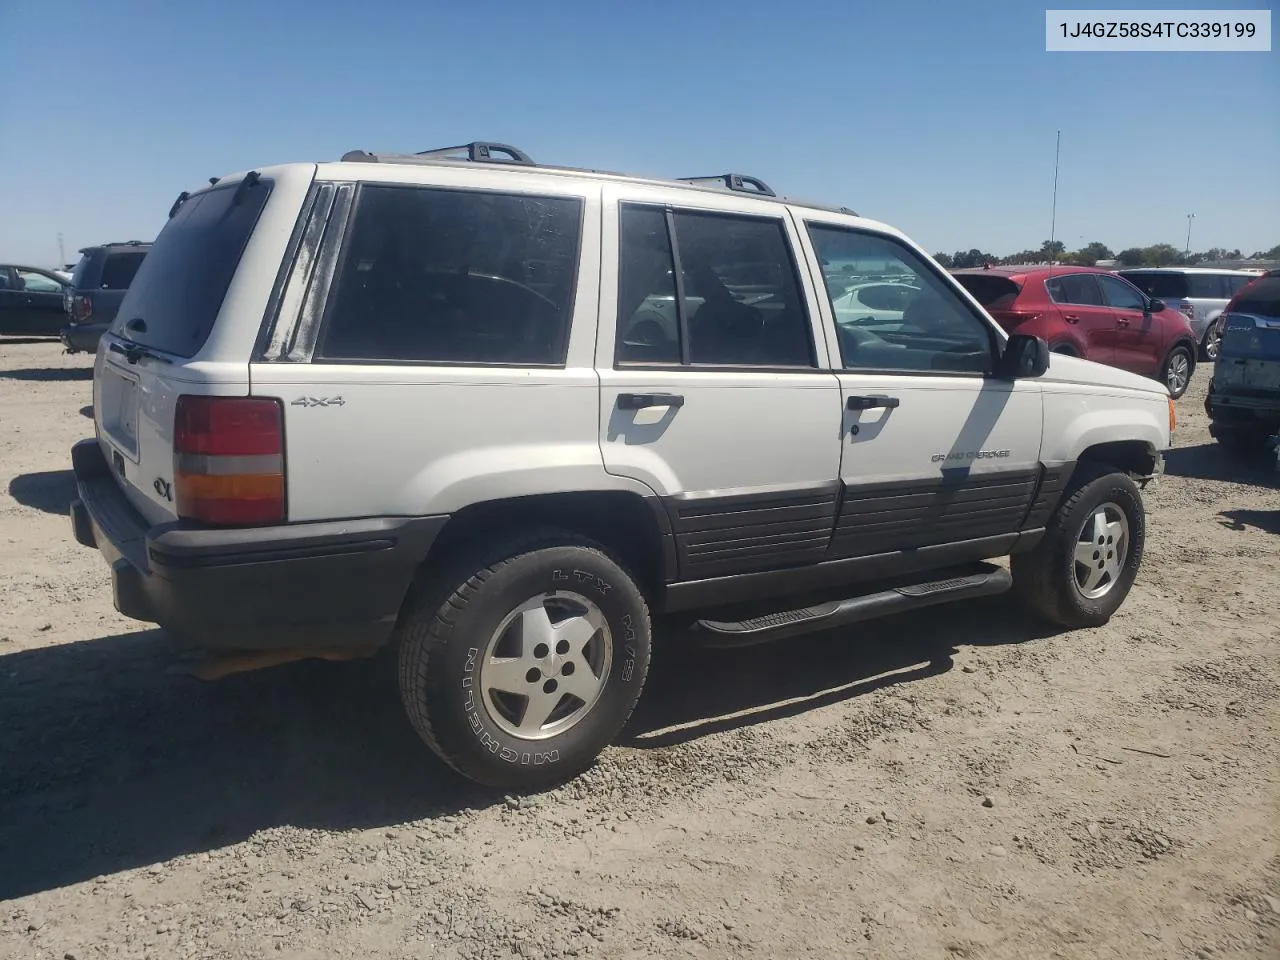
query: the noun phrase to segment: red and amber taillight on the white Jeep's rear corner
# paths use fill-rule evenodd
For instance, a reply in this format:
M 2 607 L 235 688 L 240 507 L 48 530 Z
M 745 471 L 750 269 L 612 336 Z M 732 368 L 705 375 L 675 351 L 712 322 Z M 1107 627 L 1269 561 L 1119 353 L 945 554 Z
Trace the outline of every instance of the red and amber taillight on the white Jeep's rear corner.
M 227 526 L 283 522 L 283 421 L 274 399 L 179 397 L 173 430 L 178 516 Z

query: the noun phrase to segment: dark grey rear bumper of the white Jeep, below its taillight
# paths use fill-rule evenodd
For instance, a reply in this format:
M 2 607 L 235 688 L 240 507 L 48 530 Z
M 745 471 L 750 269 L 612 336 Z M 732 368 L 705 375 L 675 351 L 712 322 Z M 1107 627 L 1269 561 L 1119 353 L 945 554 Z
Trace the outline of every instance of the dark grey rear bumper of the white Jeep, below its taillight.
M 273 527 L 148 526 L 96 440 L 72 448 L 76 539 L 111 567 L 115 608 L 180 643 L 219 650 L 364 649 L 396 625 L 448 517 Z

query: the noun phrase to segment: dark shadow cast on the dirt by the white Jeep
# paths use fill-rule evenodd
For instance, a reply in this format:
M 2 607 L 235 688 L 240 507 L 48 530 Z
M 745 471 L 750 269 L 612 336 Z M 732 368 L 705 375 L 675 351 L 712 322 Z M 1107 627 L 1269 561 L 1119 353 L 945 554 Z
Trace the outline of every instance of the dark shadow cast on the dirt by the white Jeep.
M 623 742 L 762 723 L 951 668 L 959 644 L 1043 635 L 982 600 L 749 650 L 660 636 Z M 383 659 L 212 684 L 150 630 L 0 657 L 0 900 L 294 826 L 396 826 L 500 803 L 435 760 Z M 713 678 L 713 680 L 712 680 Z

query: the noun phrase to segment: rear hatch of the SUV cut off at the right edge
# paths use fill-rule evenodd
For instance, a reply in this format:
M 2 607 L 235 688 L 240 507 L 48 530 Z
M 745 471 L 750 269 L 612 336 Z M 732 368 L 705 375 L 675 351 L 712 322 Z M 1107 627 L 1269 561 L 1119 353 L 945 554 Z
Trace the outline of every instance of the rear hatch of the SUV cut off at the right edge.
M 1280 398 L 1280 275 L 1254 280 L 1228 307 L 1213 389 Z

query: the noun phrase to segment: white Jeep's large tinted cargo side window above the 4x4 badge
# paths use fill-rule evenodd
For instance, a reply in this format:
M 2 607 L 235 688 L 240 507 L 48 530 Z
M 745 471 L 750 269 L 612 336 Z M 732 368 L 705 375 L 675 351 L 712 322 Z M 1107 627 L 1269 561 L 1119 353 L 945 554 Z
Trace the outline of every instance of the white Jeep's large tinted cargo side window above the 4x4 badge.
M 564 362 L 582 202 L 360 189 L 316 356 Z

